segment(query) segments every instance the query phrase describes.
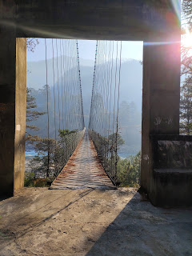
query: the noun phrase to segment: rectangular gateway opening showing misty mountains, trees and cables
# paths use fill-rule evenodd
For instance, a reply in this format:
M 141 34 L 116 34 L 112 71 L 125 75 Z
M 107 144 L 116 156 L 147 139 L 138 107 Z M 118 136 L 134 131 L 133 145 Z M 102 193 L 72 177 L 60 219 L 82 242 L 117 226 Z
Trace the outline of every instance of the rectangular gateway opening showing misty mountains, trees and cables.
M 98 161 L 115 185 L 140 186 L 142 47 L 142 42 L 46 39 L 45 44 L 42 38 L 27 39 L 26 186 L 50 184 L 78 145 L 76 138 L 71 146 L 74 131 L 81 131 L 76 100 L 79 81 L 74 82 L 77 60 L 85 127 L 98 151 Z M 85 145 L 87 142 L 89 139 Z M 83 162 L 89 157 L 85 153 L 81 158 Z M 63 171 L 65 180 L 66 174 L 73 176 L 81 169 L 73 161 L 73 170 L 68 170 L 68 164 Z M 88 172 L 95 172 L 93 166 L 97 163 L 91 163 Z M 88 172 L 83 174 L 85 179 Z M 98 177 L 101 175 L 94 177 L 95 184 Z M 78 179 L 72 180 L 70 187 L 80 186 Z

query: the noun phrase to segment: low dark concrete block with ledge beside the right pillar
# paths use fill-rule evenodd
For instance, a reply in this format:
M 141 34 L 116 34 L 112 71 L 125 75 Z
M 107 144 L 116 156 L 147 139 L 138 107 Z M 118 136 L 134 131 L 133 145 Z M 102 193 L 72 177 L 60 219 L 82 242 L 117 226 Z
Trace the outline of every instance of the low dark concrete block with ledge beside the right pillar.
M 192 136 L 152 135 L 153 186 L 158 206 L 192 205 Z

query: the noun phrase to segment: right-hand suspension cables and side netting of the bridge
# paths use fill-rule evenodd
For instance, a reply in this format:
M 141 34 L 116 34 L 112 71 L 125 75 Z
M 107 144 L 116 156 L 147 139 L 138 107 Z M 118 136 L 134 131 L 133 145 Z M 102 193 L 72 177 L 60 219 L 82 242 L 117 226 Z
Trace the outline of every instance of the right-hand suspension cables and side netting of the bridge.
M 102 166 L 118 182 L 118 102 L 121 78 L 122 42 L 98 41 L 90 106 L 89 134 Z

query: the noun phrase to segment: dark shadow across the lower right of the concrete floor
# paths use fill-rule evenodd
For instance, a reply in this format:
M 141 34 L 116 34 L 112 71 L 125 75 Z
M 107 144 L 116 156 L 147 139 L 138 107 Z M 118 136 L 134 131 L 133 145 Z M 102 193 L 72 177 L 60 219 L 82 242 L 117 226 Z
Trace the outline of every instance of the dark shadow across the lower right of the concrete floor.
M 192 209 L 157 208 L 137 193 L 93 243 L 86 256 L 190 256 Z

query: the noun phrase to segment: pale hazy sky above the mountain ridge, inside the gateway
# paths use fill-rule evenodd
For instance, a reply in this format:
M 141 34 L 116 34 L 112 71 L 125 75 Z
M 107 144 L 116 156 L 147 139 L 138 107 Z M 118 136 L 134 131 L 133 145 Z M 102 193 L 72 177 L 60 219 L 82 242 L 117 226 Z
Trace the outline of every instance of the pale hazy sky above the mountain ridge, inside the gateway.
M 59 39 L 58 39 L 59 40 Z M 38 39 L 38 46 L 36 46 L 34 53 L 27 51 L 27 61 L 37 62 L 45 60 L 45 39 Z M 52 58 L 51 39 L 46 39 L 47 44 L 47 58 Z M 78 40 L 79 57 L 93 60 L 95 54 L 96 41 L 94 40 Z M 58 53 L 59 55 L 59 53 Z M 142 42 L 122 42 L 122 58 L 134 58 L 142 60 Z

